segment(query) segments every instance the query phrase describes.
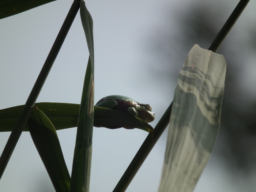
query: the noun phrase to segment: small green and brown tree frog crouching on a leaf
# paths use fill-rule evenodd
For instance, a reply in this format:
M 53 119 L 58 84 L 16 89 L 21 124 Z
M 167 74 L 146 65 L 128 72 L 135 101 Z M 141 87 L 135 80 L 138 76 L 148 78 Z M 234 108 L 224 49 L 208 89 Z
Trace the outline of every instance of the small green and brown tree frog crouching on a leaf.
M 100 99 L 95 106 L 130 113 L 146 123 L 154 121 L 155 119 L 155 113 L 152 111 L 150 105 L 139 103 L 122 95 L 110 95 L 104 97 Z

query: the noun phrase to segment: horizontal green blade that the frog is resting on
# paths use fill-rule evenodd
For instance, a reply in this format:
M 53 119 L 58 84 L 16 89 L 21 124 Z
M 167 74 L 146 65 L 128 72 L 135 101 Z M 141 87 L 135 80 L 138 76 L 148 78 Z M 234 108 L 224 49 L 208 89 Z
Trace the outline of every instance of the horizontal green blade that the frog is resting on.
M 0 110 L 0 132 L 12 131 L 24 105 Z M 35 103 L 53 123 L 56 130 L 77 127 L 79 104 L 73 103 Z M 154 129 L 141 119 L 128 113 L 94 106 L 94 126 L 105 125 L 134 127 L 147 132 Z M 27 125 L 23 131 L 29 131 Z

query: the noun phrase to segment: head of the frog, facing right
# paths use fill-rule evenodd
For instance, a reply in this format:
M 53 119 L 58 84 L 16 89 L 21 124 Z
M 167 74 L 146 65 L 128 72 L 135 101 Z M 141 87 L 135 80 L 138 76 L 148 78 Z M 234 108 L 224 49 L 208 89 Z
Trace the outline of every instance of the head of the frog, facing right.
M 150 105 L 138 103 L 138 105 L 136 105 L 136 110 L 138 111 L 138 117 L 146 123 L 154 121 L 155 113 L 152 111 Z

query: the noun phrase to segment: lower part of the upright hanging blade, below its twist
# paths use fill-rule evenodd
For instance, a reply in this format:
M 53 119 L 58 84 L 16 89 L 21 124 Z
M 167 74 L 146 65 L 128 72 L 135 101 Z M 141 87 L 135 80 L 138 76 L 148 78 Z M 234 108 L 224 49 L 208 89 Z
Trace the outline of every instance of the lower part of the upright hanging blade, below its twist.
M 91 62 L 89 58 L 78 117 L 78 128 L 71 174 L 71 192 L 89 190 L 94 117 L 94 106 L 92 103 L 94 100 L 94 88 L 92 77 Z M 85 181 L 86 184 L 84 184 Z

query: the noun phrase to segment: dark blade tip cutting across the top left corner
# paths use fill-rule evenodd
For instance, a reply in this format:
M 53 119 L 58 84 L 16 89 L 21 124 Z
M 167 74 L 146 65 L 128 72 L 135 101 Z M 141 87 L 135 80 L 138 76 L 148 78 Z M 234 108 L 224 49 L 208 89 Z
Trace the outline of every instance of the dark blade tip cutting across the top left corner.
M 0 19 L 19 14 L 56 0 L 1 0 Z

